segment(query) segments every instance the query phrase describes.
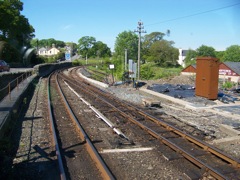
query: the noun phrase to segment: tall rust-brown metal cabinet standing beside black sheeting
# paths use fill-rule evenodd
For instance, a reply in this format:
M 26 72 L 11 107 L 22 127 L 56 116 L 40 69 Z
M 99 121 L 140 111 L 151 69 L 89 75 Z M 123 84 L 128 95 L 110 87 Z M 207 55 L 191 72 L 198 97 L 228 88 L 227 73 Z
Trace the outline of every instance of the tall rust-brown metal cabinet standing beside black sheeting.
M 218 97 L 219 60 L 212 57 L 197 57 L 196 96 L 215 100 Z

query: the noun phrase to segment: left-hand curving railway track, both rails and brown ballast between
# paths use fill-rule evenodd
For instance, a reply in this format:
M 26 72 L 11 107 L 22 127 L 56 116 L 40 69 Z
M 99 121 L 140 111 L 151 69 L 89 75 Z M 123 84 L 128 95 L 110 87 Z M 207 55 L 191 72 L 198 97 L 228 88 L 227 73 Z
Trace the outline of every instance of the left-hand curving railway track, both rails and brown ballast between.
M 48 79 L 48 111 L 61 179 L 115 179 L 75 116 L 58 72 Z

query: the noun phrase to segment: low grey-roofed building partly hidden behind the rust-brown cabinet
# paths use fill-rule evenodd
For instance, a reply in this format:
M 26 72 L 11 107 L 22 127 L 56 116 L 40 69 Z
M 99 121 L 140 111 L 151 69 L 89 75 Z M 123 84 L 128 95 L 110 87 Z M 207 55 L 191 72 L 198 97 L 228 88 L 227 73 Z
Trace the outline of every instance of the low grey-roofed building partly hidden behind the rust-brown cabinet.
M 196 64 L 189 65 L 181 72 L 183 75 L 195 75 Z M 219 64 L 219 79 L 240 82 L 240 62 L 221 62 Z

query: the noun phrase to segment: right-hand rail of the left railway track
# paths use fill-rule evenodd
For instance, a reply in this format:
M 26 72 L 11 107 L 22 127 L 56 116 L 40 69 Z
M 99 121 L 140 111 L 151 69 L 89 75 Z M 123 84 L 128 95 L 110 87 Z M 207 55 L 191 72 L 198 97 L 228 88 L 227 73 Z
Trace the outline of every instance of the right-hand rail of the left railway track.
M 97 164 L 97 167 L 100 170 L 100 172 L 102 173 L 103 178 L 104 179 L 115 179 L 115 177 L 113 176 L 113 174 L 111 173 L 111 171 L 109 170 L 109 168 L 107 167 L 105 162 L 103 161 L 102 157 L 98 153 L 97 149 L 92 144 L 92 142 L 91 142 L 90 138 L 88 137 L 87 133 L 85 132 L 83 127 L 80 125 L 80 123 L 79 123 L 77 117 L 75 116 L 74 112 L 72 111 L 71 107 L 69 106 L 69 104 L 67 102 L 67 99 L 66 99 L 65 95 L 63 94 L 62 88 L 59 85 L 59 77 L 58 77 L 58 75 L 56 76 L 56 82 L 57 82 L 58 90 L 60 92 L 62 100 L 64 102 L 65 108 L 66 108 L 68 114 L 70 115 L 70 118 L 72 119 L 72 121 L 75 123 L 77 128 L 80 130 L 80 132 L 81 132 L 80 133 L 80 137 L 83 140 L 86 141 L 87 150 L 88 150 L 91 158 Z

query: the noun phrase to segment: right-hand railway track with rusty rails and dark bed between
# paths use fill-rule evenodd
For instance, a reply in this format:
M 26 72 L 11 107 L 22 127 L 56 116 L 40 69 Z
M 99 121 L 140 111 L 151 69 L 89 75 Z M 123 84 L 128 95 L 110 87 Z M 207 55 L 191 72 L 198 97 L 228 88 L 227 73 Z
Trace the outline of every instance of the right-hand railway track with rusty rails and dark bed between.
M 73 89 L 84 94 L 84 97 L 87 97 L 88 101 L 104 115 L 114 119 L 115 124 L 120 129 L 126 126 L 133 127 L 132 124 L 135 124 L 160 142 L 160 151 L 167 159 L 183 158 L 194 164 L 192 169 L 186 170 L 191 179 L 201 179 L 208 176 L 216 179 L 239 179 L 239 160 L 229 157 L 162 119 L 158 119 L 129 103 L 120 101 L 83 80 L 78 84 L 80 77 L 76 75 L 76 71 L 76 69 L 71 71 L 72 77 L 62 74 L 61 78 Z

